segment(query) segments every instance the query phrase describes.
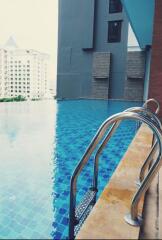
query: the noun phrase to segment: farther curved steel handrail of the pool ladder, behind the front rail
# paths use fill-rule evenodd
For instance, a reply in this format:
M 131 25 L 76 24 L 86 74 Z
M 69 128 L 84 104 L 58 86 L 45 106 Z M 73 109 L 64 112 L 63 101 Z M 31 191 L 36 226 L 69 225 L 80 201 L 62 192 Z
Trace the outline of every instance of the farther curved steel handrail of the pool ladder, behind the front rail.
M 159 127 L 161 127 L 161 122 L 158 119 L 158 117 L 151 112 L 149 109 L 146 109 L 144 107 L 132 107 L 132 108 L 128 108 L 126 109 L 124 112 L 136 112 L 136 113 L 144 113 L 145 116 L 148 116 L 152 119 L 152 121 L 157 124 Z M 96 155 L 95 155 L 95 161 L 94 161 L 94 179 L 93 179 L 93 188 L 97 189 L 97 185 L 98 185 L 98 162 L 99 162 L 99 157 L 103 151 L 103 149 L 105 148 L 106 144 L 108 143 L 109 139 L 111 138 L 111 136 L 113 135 L 113 133 L 115 132 L 115 130 L 118 128 L 118 126 L 120 125 L 121 121 L 118 121 L 116 123 L 113 124 L 113 126 L 111 127 L 111 129 L 109 130 L 109 132 L 107 133 L 106 137 L 104 138 L 103 142 L 101 143 L 100 147 L 98 148 Z M 156 144 L 157 146 L 157 144 Z M 156 151 L 156 146 L 153 148 L 153 151 L 151 151 L 151 154 L 149 155 L 149 157 L 146 159 L 146 161 L 144 162 L 141 171 L 140 171 L 140 176 L 139 176 L 139 181 L 137 181 L 137 185 L 140 185 L 141 179 L 144 177 L 145 171 L 148 167 L 148 165 L 151 163 L 153 155 Z

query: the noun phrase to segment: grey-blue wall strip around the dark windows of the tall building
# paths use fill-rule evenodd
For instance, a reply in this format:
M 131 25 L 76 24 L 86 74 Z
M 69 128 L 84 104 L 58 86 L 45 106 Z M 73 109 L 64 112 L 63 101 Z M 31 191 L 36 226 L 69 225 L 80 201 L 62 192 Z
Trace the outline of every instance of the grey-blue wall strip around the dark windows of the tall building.
M 121 41 L 108 43 L 108 21 L 123 20 Z M 109 98 L 124 97 L 126 77 L 126 56 L 128 41 L 128 21 L 125 12 L 109 14 L 109 1 L 96 1 L 95 51 L 111 53 L 111 72 L 109 76 Z

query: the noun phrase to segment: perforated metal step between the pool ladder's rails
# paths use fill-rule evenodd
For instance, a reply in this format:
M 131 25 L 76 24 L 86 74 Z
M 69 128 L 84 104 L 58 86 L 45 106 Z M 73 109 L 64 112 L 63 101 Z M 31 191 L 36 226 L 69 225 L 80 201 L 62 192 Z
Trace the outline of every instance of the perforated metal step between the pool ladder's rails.
M 96 193 L 97 193 L 96 191 L 89 189 L 88 192 L 83 197 L 81 203 L 76 207 L 75 217 L 78 222 L 84 216 L 89 206 L 93 203 L 93 200 L 96 197 Z

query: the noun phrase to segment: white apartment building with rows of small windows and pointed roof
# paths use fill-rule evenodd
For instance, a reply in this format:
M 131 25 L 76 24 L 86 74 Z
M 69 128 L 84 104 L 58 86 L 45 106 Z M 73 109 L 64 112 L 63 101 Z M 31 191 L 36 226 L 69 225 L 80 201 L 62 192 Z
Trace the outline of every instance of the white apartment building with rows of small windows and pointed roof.
M 19 49 L 12 38 L 0 49 L 0 98 L 43 99 L 49 91 L 49 56 Z

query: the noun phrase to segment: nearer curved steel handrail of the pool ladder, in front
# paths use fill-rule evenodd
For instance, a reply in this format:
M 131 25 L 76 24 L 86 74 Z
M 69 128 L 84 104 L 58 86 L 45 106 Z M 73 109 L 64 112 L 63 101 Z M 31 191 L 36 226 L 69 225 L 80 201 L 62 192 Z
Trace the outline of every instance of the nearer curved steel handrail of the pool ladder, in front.
M 83 155 L 81 161 L 79 162 L 79 164 L 77 165 L 76 169 L 74 170 L 74 173 L 71 177 L 71 183 L 70 183 L 70 212 L 69 212 L 69 238 L 74 238 L 74 226 L 76 224 L 76 217 L 75 217 L 75 208 L 76 208 L 76 182 L 77 182 L 77 178 L 79 173 L 82 171 L 82 169 L 84 168 L 84 166 L 86 165 L 88 159 L 90 158 L 92 152 L 94 151 L 94 149 L 96 148 L 97 144 L 99 143 L 99 141 L 103 138 L 103 136 L 105 135 L 108 127 L 110 127 L 110 125 L 124 120 L 124 119 L 132 119 L 132 120 L 139 120 L 145 124 L 148 125 L 148 127 L 153 131 L 153 133 L 155 134 L 157 141 L 158 141 L 158 145 L 159 145 L 159 153 L 161 156 L 161 132 L 159 132 L 159 128 L 157 128 L 157 126 L 150 121 L 150 119 L 146 116 L 143 116 L 142 114 L 139 113 L 132 113 L 132 112 L 122 112 L 122 113 L 118 113 L 115 114 L 113 116 L 111 116 L 110 118 L 108 118 L 99 128 L 99 130 L 97 131 L 96 135 L 94 136 L 94 138 L 92 139 L 89 147 L 87 148 L 85 154 Z M 154 165 L 153 165 L 154 166 Z M 152 169 L 152 168 L 151 168 Z M 152 176 L 152 174 L 150 175 Z M 146 179 L 146 178 L 145 178 Z M 147 183 L 148 186 L 148 183 Z M 141 188 L 143 189 L 143 191 L 141 191 Z M 143 184 L 141 185 L 141 187 L 139 188 L 140 192 L 138 194 L 138 197 L 135 199 L 140 199 L 142 196 L 142 193 L 145 191 L 146 186 L 144 185 L 143 188 Z M 138 190 L 138 191 L 139 191 Z M 135 206 L 136 208 L 138 208 L 138 201 L 135 201 Z M 133 204 L 134 206 L 134 204 Z M 134 208 L 133 208 L 134 209 Z M 136 211 L 133 211 L 136 213 Z M 138 212 L 138 210 L 137 210 Z M 131 216 L 132 216 L 132 211 L 131 211 Z M 133 214 L 133 217 L 137 217 L 136 214 Z

